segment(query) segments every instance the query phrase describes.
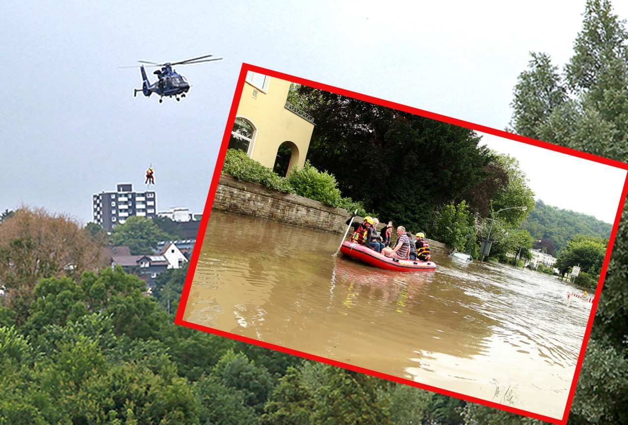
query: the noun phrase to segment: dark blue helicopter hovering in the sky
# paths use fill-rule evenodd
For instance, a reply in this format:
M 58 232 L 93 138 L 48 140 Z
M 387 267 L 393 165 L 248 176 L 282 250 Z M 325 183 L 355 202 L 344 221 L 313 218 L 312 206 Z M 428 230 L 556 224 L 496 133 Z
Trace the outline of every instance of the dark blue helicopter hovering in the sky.
M 173 66 L 175 65 L 193 65 L 195 63 L 202 62 L 212 62 L 215 60 L 222 60 L 222 58 L 212 57 L 214 55 L 205 55 L 205 56 L 197 56 L 196 58 L 181 60 L 179 62 L 166 62 L 166 63 L 156 63 L 149 62 L 148 60 L 138 60 L 139 63 L 142 63 L 139 67 L 139 72 L 142 75 L 143 85 L 141 89 L 134 89 L 133 97 L 138 95 L 138 92 L 142 92 L 142 94 L 146 97 L 149 97 L 151 94 L 155 93 L 160 96 L 159 102 L 163 102 L 163 97 L 175 97 L 178 102 L 181 100 L 181 97 L 185 97 L 185 94 L 190 90 L 190 83 L 181 75 L 180 73 L 176 73 L 173 70 Z M 158 80 L 154 83 L 151 83 L 148 80 L 148 76 L 146 75 L 146 69 L 144 68 L 144 63 L 151 67 L 161 67 L 160 70 L 155 70 L 153 73 L 157 76 Z

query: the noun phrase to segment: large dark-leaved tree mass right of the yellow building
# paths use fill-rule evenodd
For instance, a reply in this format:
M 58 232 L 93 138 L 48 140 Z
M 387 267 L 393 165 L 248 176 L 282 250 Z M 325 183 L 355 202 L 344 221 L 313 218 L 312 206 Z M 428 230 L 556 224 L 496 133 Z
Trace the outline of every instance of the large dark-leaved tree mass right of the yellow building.
M 396 223 L 426 227 L 434 210 L 489 175 L 488 149 L 470 129 L 311 87 L 298 93 L 317 122 L 311 164 L 330 171 L 343 196 Z

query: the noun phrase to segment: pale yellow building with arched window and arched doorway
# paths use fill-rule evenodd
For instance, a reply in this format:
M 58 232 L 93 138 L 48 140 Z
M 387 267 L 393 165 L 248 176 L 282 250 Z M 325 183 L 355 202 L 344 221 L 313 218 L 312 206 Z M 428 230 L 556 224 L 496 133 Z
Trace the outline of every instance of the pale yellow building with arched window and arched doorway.
M 290 164 L 302 168 L 308 153 L 313 119 L 289 104 L 290 81 L 249 71 L 242 89 L 229 148 L 273 168 L 279 146 L 290 148 Z

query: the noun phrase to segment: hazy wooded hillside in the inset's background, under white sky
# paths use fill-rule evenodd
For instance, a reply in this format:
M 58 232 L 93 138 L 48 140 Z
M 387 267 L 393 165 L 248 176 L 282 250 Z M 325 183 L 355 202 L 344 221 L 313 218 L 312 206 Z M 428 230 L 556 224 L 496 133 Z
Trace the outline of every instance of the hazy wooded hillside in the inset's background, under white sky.
M 612 224 L 583 213 L 545 205 L 542 200 L 538 200 L 536 208 L 521 223 L 521 229 L 528 230 L 537 241 L 534 248 L 544 248 L 544 252 L 556 257 L 558 251 L 575 235 L 609 239 Z

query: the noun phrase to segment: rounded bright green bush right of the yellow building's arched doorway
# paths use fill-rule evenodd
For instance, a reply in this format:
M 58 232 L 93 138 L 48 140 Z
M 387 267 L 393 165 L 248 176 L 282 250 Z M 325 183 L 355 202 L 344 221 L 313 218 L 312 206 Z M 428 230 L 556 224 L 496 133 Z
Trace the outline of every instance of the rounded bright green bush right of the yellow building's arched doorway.
M 332 207 L 340 205 L 342 196 L 336 178 L 327 171 L 318 171 L 311 166 L 310 161 L 305 161 L 305 165 L 301 169 L 294 166 L 288 175 L 288 182 L 295 188 L 297 195 Z

